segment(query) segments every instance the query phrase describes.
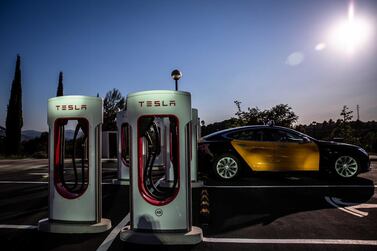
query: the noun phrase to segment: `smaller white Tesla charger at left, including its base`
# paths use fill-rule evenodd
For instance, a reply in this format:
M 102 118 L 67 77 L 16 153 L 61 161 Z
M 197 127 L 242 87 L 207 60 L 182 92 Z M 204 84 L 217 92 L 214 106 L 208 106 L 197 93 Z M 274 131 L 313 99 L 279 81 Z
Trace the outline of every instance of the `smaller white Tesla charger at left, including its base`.
M 102 218 L 102 99 L 62 96 L 48 100 L 49 210 L 38 229 L 95 233 L 111 228 Z

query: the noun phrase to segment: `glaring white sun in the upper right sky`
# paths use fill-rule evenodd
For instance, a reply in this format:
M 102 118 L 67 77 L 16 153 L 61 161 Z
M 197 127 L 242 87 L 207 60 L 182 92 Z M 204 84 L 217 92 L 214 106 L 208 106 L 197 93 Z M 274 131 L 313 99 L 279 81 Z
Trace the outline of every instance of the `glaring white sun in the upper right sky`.
M 354 5 L 348 7 L 348 18 L 339 21 L 330 32 L 330 41 L 348 54 L 361 49 L 371 35 L 371 25 L 360 17 L 355 17 Z

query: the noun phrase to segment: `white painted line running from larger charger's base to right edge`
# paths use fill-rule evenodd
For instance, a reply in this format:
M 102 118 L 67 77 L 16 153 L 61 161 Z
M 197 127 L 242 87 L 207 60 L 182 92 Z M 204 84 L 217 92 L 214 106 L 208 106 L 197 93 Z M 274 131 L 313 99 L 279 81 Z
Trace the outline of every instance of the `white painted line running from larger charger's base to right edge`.
M 244 244 L 320 244 L 320 245 L 367 245 L 377 246 L 377 240 L 342 240 L 342 239 L 241 239 L 241 238 L 209 238 L 205 242 L 244 243 Z

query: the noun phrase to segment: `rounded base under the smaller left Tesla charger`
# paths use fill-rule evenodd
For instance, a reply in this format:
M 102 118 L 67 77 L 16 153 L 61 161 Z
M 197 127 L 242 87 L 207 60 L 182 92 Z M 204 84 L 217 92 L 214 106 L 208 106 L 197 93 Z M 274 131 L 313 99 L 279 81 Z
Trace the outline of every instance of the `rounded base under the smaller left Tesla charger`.
M 99 223 L 85 224 L 75 222 L 54 222 L 48 218 L 38 222 L 38 231 L 65 234 L 89 234 L 101 233 L 111 228 L 111 221 L 102 218 Z

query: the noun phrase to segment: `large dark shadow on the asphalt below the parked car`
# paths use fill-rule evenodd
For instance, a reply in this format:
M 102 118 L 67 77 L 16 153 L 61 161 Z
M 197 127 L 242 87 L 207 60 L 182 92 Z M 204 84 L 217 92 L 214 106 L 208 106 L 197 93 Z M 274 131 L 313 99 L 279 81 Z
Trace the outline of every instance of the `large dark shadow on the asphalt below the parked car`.
M 326 202 L 326 196 L 364 203 L 375 190 L 373 181 L 362 177 L 344 181 L 296 174 L 261 174 L 257 179 L 246 178 L 231 183 L 208 180 L 206 185 L 209 186 L 210 216 L 207 227 L 204 227 L 205 235 L 257 224 L 268 225 L 287 215 L 333 208 Z

